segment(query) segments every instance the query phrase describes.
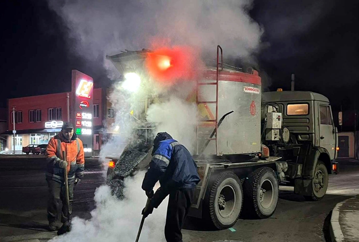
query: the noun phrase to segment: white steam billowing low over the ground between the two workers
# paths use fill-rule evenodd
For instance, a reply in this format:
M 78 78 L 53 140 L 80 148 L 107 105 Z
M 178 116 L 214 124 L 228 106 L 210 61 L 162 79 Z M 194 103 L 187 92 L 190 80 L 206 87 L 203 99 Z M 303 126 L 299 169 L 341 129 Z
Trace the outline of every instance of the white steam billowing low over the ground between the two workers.
M 91 211 L 92 218 L 72 219 L 70 232 L 55 237 L 50 242 L 127 242 L 135 241 L 141 222 L 141 211 L 147 197 L 141 190 L 144 173 L 134 178 L 125 178 L 124 200 L 111 196 L 108 186 L 98 187 L 95 191 L 96 208 Z M 168 200 L 154 209 L 144 222 L 139 241 L 165 241 L 164 224 Z

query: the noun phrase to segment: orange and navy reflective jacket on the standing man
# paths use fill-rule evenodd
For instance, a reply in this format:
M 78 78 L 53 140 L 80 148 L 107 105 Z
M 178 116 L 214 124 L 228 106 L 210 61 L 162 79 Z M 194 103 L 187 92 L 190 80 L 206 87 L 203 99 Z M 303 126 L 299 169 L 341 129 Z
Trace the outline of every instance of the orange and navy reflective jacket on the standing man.
M 60 160 L 63 160 L 62 151 L 66 153 L 67 180 L 73 181 L 82 178 L 85 169 L 84 147 L 82 141 L 74 134 L 70 141 L 65 140 L 62 134 L 58 134 L 48 142 L 47 171 L 46 177 L 57 182 L 64 182 L 64 169 L 59 167 Z

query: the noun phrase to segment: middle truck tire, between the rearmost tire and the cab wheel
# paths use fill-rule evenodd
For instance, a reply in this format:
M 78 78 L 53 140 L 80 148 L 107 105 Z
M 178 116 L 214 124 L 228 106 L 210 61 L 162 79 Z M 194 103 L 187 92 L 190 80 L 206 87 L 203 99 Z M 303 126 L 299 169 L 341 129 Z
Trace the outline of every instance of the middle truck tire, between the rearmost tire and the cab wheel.
M 244 207 L 253 218 L 269 218 L 279 196 L 278 180 L 272 168 L 256 169 L 243 183 Z

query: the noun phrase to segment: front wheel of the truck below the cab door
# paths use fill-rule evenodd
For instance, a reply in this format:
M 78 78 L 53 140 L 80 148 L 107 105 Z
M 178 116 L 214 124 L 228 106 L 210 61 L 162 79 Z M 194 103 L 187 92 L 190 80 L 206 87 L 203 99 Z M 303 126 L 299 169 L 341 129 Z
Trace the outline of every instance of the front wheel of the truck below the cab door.
M 325 164 L 318 160 L 312 180 L 312 195 L 304 196 L 308 201 L 321 200 L 328 188 L 328 171 Z

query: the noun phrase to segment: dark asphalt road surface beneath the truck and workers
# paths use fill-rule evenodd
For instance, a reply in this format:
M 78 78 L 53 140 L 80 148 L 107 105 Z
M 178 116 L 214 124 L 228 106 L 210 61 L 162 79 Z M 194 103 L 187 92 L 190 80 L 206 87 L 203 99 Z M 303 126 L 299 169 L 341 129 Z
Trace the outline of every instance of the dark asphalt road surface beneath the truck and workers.
M 293 194 L 293 188 L 281 187 L 278 206 L 271 218 L 239 219 L 233 227 L 235 232 L 228 229 L 207 231 L 200 220 L 191 218 L 187 219 L 183 229 L 183 240 L 326 241 L 331 209 L 348 196 L 359 194 L 359 166 L 353 164 L 345 163 L 340 174 L 330 176 L 330 187 L 321 201 L 304 201 L 302 196 Z M 43 157 L 9 159 L 0 156 L 0 238 L 7 241 L 31 238 L 46 241 L 54 236 L 54 233 L 45 230 L 47 185 L 44 168 Z M 94 191 L 103 181 L 104 173 L 97 159 L 87 159 L 85 177 L 75 189 L 75 216 L 90 218 L 90 211 L 94 208 Z M 9 240 L 9 236 L 15 237 Z

